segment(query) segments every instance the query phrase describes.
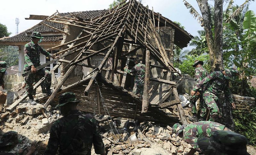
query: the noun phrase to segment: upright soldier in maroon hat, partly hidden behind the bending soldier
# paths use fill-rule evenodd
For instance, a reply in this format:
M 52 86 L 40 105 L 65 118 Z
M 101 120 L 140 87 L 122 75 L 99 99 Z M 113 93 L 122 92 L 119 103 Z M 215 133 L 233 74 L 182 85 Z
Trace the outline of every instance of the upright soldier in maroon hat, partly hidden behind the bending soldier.
M 202 81 L 209 73 L 208 71 L 203 67 L 204 62 L 196 60 L 193 67 L 195 67 L 195 77 L 196 77 L 196 85 Z M 203 98 L 203 90 L 204 86 L 199 89 L 199 91 L 196 92 L 196 95 L 193 95 L 190 98 L 190 106 L 191 106 L 191 112 L 193 116 L 188 116 L 189 120 L 197 122 L 197 110 L 196 110 L 196 101 L 200 99 L 200 119 L 199 121 L 205 121 L 205 114 L 206 114 L 206 105 L 204 103 Z

